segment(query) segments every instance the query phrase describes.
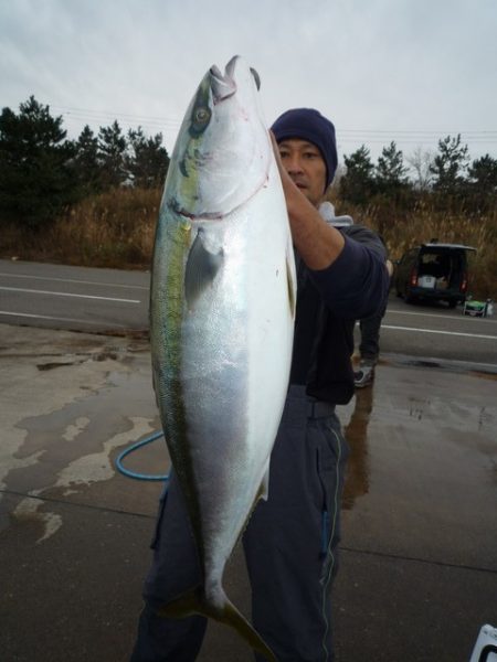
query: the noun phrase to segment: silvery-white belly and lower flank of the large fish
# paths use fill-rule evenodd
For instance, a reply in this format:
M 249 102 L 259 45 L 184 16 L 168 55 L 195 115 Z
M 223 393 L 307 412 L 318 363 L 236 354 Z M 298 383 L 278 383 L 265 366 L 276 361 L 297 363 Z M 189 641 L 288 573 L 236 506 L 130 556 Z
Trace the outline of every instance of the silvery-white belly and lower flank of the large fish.
M 225 220 L 222 273 L 186 312 L 181 389 L 205 574 L 222 574 L 268 469 L 293 341 L 286 207 L 263 189 Z

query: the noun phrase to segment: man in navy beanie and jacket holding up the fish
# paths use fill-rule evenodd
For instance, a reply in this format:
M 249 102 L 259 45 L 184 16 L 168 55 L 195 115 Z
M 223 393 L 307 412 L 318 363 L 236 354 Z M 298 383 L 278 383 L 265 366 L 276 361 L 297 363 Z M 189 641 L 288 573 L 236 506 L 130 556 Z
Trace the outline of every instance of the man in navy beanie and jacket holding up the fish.
M 318 212 L 337 169 L 334 125 L 317 110 L 288 110 L 273 125 L 297 260 L 297 311 L 287 402 L 271 460 L 269 496 L 244 534 L 253 623 L 281 662 L 330 661 L 330 585 L 337 572 L 347 444 L 335 414 L 353 394 L 356 319 L 383 305 L 381 241 L 342 232 Z M 190 662 L 205 619 L 161 619 L 161 595 L 194 585 L 197 557 L 176 481 L 159 516 L 133 662 Z M 262 658 L 256 655 L 257 660 Z

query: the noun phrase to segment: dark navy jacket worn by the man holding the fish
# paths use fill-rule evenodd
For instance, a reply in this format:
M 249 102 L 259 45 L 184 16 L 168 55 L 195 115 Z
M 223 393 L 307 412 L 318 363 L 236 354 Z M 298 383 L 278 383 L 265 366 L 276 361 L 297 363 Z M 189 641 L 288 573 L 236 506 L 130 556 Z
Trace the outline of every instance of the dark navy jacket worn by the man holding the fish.
M 297 312 L 290 383 L 307 394 L 345 405 L 353 395 L 353 325 L 387 302 L 385 247 L 361 225 L 340 229 L 345 246 L 318 271 L 297 257 Z

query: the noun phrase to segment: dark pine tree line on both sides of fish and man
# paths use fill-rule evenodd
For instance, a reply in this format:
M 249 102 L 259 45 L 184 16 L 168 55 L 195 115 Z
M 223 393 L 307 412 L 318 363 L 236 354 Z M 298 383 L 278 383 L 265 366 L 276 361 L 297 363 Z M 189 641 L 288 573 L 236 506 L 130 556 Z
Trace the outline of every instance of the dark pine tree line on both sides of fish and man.
M 168 166 L 161 134 L 124 134 L 115 120 L 96 135 L 86 125 L 71 140 L 63 118 L 31 96 L 19 113 L 3 108 L 0 116 L 0 223 L 39 228 L 89 195 L 160 188 Z M 497 160 L 487 153 L 470 161 L 461 135 L 441 139 L 436 153 L 417 149 L 408 159 L 391 142 L 377 163 L 362 145 L 345 156 L 337 188 L 341 202 L 358 206 L 409 211 L 429 199 L 437 209 L 484 214 L 496 207 Z

